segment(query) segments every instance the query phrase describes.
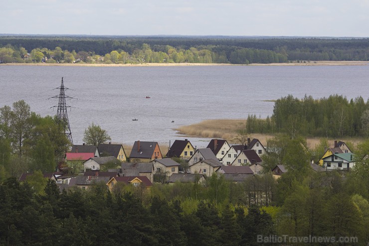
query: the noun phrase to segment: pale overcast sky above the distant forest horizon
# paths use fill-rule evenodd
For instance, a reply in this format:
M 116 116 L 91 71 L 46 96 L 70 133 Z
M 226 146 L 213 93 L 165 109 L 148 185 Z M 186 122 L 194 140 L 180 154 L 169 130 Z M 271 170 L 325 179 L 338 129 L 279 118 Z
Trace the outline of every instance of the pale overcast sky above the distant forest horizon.
M 369 37 L 369 0 L 3 0 L 0 33 Z

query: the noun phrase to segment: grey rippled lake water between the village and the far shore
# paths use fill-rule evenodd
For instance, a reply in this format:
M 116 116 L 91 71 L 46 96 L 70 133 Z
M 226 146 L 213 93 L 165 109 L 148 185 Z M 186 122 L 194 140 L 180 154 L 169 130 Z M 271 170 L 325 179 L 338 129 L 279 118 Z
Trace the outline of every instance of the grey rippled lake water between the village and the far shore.
M 61 77 L 72 90 L 68 111 L 74 144 L 94 122 L 113 142 L 172 143 L 174 128 L 205 119 L 265 118 L 274 100 L 292 94 L 369 98 L 369 66 L 0 66 L 0 107 L 23 99 L 42 116 L 56 114 Z M 150 96 L 150 99 L 146 99 Z M 138 121 L 132 121 L 132 119 Z M 172 123 L 174 121 L 174 123 Z M 188 138 L 197 147 L 208 139 Z

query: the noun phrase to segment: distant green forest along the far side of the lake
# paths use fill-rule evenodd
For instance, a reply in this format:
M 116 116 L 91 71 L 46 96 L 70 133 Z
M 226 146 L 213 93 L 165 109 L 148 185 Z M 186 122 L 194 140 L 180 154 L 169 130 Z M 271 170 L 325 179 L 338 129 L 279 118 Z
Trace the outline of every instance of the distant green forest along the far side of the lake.
M 319 60 L 368 61 L 369 38 L 0 36 L 0 61 L 25 62 L 25 51 L 33 51 L 34 55 L 35 52 L 41 52 L 44 57 L 51 58 L 49 62 L 68 63 L 76 60 L 85 63 L 232 64 Z M 38 53 L 28 62 L 41 62 L 40 56 Z

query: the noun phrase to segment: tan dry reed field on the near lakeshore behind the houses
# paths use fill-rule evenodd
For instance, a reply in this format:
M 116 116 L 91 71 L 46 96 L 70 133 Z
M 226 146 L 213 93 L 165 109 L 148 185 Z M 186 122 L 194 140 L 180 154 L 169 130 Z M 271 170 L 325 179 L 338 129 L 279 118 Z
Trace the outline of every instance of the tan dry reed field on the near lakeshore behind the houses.
M 237 120 L 204 120 L 197 124 L 182 126 L 178 129 L 179 134 L 187 137 L 199 138 L 221 138 L 227 140 L 229 143 L 235 143 L 234 138 L 237 136 L 240 129 L 245 128 L 246 119 Z M 252 133 L 248 134 L 249 138 L 257 138 L 260 142 L 266 145 L 268 139 L 273 138 L 270 134 Z M 344 138 L 344 139 L 328 139 L 328 143 L 333 147 L 334 141 L 352 142 L 357 145 L 362 141 L 360 138 Z M 320 141 L 320 138 L 307 138 L 309 148 L 314 148 Z

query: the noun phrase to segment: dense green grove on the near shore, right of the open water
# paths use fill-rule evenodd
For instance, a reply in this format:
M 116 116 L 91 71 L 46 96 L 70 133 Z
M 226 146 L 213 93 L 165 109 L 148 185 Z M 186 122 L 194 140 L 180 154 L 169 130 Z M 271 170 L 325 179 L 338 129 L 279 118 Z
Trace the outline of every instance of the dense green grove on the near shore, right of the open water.
M 342 95 L 302 99 L 292 95 L 274 103 L 273 115 L 266 119 L 249 115 L 248 133 L 285 133 L 318 137 L 369 136 L 369 101 L 357 97 L 350 101 Z

